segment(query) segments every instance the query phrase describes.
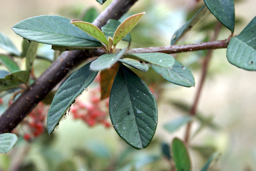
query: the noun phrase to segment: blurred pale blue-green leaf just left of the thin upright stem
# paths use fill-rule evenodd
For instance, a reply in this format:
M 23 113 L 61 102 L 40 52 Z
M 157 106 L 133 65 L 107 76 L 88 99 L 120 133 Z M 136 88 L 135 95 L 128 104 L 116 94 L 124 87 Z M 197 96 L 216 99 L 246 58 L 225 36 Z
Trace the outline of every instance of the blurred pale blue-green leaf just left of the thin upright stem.
M 175 120 L 172 120 L 169 123 L 164 124 L 163 128 L 165 128 L 165 130 L 168 131 L 169 133 L 172 133 L 179 129 L 182 125 L 188 123 L 190 120 L 192 120 L 191 116 L 179 117 Z

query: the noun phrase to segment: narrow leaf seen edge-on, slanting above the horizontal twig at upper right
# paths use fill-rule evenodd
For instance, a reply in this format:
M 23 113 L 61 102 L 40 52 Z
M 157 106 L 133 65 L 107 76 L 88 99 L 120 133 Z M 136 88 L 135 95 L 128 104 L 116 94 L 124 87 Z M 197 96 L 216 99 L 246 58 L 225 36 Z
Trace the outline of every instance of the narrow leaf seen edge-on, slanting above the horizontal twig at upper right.
M 204 5 L 195 15 L 187 21 L 181 28 L 179 28 L 172 36 L 171 45 L 177 44 L 180 39 L 190 31 L 202 18 L 209 14 L 209 10 Z

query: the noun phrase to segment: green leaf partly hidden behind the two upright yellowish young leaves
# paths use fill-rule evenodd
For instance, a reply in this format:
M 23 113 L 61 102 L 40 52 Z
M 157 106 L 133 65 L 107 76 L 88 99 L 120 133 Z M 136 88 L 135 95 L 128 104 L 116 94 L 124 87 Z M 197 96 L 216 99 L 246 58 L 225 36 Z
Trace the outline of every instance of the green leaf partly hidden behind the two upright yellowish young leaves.
M 110 19 L 108 20 L 107 24 L 105 26 L 102 26 L 102 32 L 105 35 L 114 37 L 115 31 L 118 28 L 118 26 L 121 24 L 120 21 L 118 20 L 114 20 L 114 19 Z M 131 42 L 131 34 L 128 33 L 122 40 L 127 41 L 127 42 Z

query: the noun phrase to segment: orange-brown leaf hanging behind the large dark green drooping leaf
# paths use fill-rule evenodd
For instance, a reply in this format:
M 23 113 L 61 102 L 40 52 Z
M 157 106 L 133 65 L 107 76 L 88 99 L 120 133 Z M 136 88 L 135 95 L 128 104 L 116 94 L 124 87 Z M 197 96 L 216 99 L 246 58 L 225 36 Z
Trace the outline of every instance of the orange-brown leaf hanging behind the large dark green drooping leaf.
M 100 72 L 101 99 L 110 96 L 111 87 L 116 76 L 119 64 L 114 64 L 110 69 L 105 69 Z

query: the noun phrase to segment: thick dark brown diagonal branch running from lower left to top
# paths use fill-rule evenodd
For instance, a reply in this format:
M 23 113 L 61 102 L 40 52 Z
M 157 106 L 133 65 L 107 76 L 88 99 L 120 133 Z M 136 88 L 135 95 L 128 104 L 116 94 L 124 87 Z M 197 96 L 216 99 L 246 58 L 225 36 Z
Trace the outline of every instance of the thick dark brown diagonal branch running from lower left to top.
M 99 28 L 109 19 L 119 19 L 137 0 L 113 0 L 93 24 Z M 102 55 L 101 50 L 66 51 L 35 80 L 0 117 L 0 134 L 11 132 L 30 111 L 81 61 Z

